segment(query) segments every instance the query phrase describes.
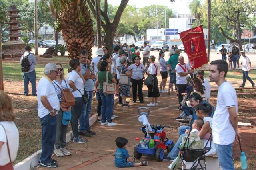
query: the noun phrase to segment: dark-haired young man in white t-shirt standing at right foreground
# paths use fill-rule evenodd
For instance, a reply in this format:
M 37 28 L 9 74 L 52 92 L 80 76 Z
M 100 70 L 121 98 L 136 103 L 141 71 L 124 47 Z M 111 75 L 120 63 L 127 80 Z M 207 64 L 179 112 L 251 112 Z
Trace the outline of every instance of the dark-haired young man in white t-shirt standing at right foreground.
M 232 143 L 241 139 L 237 132 L 236 90 L 226 81 L 228 63 L 215 60 L 210 63 L 210 82 L 218 87 L 217 106 L 212 119 L 212 136 L 222 170 L 234 170 Z

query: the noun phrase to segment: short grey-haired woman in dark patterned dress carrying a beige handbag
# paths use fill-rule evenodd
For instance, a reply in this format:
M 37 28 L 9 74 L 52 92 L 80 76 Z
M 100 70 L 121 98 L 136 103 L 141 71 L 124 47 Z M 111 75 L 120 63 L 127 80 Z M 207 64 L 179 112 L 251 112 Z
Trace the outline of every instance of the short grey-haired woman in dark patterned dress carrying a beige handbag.
M 118 71 L 120 74 L 125 74 L 126 76 L 131 76 L 131 72 L 127 67 L 127 58 L 125 56 L 120 57 L 121 66 L 118 67 Z M 126 97 L 130 96 L 130 83 L 128 84 L 120 84 L 120 95 L 122 97 L 122 107 L 130 107 L 130 105 L 126 102 Z

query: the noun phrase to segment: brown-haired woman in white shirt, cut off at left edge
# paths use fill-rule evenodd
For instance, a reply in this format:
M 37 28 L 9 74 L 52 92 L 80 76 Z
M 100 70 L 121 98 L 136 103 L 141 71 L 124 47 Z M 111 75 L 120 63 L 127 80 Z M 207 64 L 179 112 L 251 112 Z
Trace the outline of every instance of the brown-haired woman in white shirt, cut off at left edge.
M 12 168 L 19 147 L 19 131 L 14 124 L 15 114 L 12 100 L 4 91 L 0 91 L 0 169 Z M 8 142 L 8 145 L 7 145 Z M 10 154 L 8 153 L 10 150 Z

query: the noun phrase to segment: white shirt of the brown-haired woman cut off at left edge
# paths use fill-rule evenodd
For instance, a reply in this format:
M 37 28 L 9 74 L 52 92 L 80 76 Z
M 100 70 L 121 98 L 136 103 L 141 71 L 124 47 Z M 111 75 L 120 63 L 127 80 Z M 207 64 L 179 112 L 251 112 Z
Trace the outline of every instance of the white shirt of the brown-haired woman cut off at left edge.
M 4 166 L 10 162 L 6 144 L 6 134 L 10 149 L 11 160 L 12 162 L 14 162 L 17 157 L 17 152 L 19 148 L 19 131 L 13 121 L 1 121 L 0 124 L 4 126 L 3 128 L 0 125 L 0 142 L 4 142 L 0 149 L 0 166 Z M 4 129 L 6 130 L 6 133 Z

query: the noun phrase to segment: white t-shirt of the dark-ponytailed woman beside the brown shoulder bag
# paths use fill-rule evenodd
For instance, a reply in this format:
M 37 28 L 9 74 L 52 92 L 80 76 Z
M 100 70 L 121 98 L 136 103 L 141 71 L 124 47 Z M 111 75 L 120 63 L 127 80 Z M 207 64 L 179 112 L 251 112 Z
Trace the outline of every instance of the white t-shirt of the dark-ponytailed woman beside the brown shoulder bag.
M 72 92 L 74 98 L 82 97 L 82 94 L 84 94 L 84 81 L 79 76 L 79 74 L 75 70 L 73 70 L 72 72 L 68 73 L 67 79 L 68 79 L 68 81 L 71 80 L 72 82 L 74 82 L 76 88 L 78 90 L 80 90 L 80 92 L 78 90 Z M 72 88 L 70 88 L 70 89 L 72 89 Z M 73 91 L 73 89 L 71 91 Z

